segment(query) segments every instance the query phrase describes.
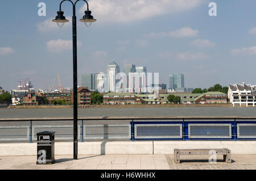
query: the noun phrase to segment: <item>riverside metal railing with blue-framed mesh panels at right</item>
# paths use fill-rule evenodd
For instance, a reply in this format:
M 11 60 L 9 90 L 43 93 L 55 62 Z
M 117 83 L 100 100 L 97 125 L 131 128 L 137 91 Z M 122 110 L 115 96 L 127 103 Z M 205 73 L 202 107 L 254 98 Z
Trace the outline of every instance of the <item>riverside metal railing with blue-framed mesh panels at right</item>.
M 51 121 L 50 124 L 41 121 Z M 64 121 L 60 125 L 52 125 Z M 256 118 L 185 117 L 185 118 L 95 118 L 79 119 L 78 138 L 85 140 L 256 140 Z M 87 124 L 88 121 L 92 123 Z M 100 121 L 100 123 L 98 123 Z M 103 121 L 103 123 L 102 123 Z M 73 139 L 72 119 L 0 120 L 28 125 L 0 125 L 1 141 L 36 140 L 35 133 L 55 131 L 55 140 Z M 112 122 L 112 123 L 108 123 Z M 113 122 L 119 122 L 113 124 Z M 126 122 L 127 124 L 124 124 Z M 36 124 L 35 124 L 36 123 Z M 66 124 L 70 123 L 70 124 Z M 15 123 L 16 124 L 16 123 Z M 38 125 L 40 124 L 40 125 Z

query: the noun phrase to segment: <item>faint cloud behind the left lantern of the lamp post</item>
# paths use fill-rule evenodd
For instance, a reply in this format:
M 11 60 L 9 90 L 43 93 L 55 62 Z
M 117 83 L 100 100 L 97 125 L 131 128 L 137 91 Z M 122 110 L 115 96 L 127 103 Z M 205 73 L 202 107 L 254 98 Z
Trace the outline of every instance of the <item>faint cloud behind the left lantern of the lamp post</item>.
M 38 31 L 40 31 L 40 32 L 49 32 L 49 31 L 60 30 L 60 27 L 57 26 L 57 23 L 52 22 L 53 19 L 55 19 L 55 18 L 49 18 L 49 19 L 47 19 L 43 22 L 39 22 L 38 24 L 36 24 L 36 27 L 38 28 Z M 72 17 L 68 16 L 68 17 L 66 17 L 66 19 L 68 19 L 69 22 L 65 23 L 62 28 L 71 27 L 71 25 L 72 25 Z

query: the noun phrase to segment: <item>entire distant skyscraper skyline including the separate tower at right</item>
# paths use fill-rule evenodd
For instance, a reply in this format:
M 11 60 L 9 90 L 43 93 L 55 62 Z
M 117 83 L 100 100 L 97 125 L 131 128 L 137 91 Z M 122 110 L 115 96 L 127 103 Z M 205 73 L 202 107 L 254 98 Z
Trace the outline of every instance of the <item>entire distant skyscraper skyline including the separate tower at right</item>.
M 81 75 L 81 86 L 99 92 L 152 92 L 152 90 L 166 90 L 164 83 L 159 84 L 158 76 L 147 73 L 145 66 L 135 66 L 133 64 L 124 65 L 123 71 L 116 62 L 108 65 L 106 73 L 85 73 Z M 157 80 L 156 80 L 157 79 Z M 193 89 L 184 87 L 184 74 L 170 74 L 171 92 L 189 92 Z M 148 86 L 149 85 L 149 86 Z M 150 88 L 149 88 L 150 87 Z

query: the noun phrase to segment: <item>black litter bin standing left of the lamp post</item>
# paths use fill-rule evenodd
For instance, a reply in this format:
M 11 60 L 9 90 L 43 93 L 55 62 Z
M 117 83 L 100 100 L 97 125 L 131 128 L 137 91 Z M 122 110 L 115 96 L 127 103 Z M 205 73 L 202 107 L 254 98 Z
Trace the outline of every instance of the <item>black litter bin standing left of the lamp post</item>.
M 36 164 L 52 164 L 55 162 L 54 136 L 55 132 L 39 132 L 38 137 L 38 160 Z

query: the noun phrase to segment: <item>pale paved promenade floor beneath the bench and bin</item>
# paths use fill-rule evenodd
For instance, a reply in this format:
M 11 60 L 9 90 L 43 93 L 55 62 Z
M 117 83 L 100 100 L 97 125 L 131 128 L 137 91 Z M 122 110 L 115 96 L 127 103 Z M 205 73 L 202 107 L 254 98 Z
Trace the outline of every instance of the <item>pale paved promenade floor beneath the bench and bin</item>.
M 184 155 L 181 163 L 174 163 L 173 154 L 130 155 L 56 155 L 53 165 L 36 165 L 36 156 L 0 157 L 0 169 L 89 169 L 89 170 L 256 170 L 256 154 L 232 154 L 232 163 L 209 163 L 208 155 Z

